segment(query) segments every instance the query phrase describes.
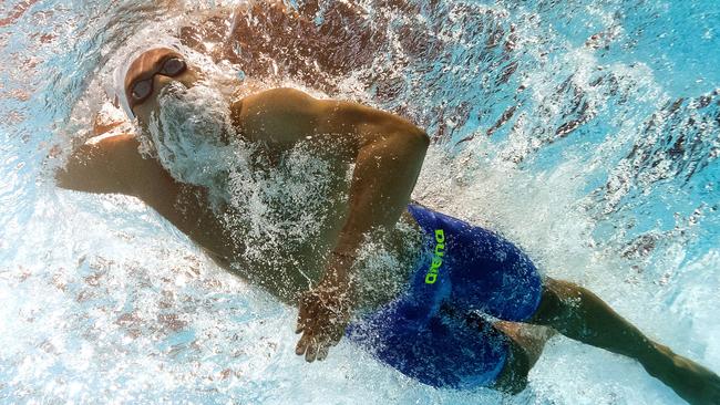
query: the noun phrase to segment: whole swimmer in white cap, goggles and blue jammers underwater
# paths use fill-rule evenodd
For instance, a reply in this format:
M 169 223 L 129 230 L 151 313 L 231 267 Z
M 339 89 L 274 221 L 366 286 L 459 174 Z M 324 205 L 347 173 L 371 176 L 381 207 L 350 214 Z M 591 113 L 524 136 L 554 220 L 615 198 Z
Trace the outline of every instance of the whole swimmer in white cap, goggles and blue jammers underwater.
M 651 341 L 593 292 L 541 277 L 524 252 L 492 231 L 411 202 L 430 143 L 421 128 L 294 89 L 220 91 L 213 73 L 192 61 L 183 48 L 134 59 L 119 96 L 136 131 L 103 133 L 113 125 L 96 125 L 102 136 L 72 153 L 58 185 L 137 197 L 219 264 L 243 263 L 249 282 L 298 305 L 296 353 L 308 362 L 326 359 L 344 336 L 432 386 L 518 393 L 558 332 L 635 359 L 692 404 L 720 403 L 714 373 Z M 267 170 L 298 146 L 329 162 L 339 178 L 352 165 L 349 180 L 325 190 L 328 201 L 347 197 L 309 240 L 254 261 L 238 242 L 253 236 L 226 220 L 244 220 L 237 218 L 243 207 L 227 200 L 234 163 L 226 157 L 251 150 L 261 158 L 247 160 L 249 169 Z M 301 201 L 287 208 L 301 208 L 296 205 Z M 359 313 L 362 283 L 373 282 L 353 277 L 367 238 L 403 258 L 383 271 L 407 287 L 362 303 L 371 310 Z

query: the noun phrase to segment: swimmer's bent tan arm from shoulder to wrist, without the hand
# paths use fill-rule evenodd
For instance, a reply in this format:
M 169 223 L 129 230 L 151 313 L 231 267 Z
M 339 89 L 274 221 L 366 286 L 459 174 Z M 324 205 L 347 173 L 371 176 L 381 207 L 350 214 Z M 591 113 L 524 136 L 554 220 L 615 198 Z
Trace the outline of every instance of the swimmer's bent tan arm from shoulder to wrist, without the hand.
M 274 89 L 235 104 L 241 136 L 272 148 L 315 139 L 354 163 L 348 219 L 336 253 L 354 256 L 362 235 L 392 228 L 415 185 L 430 139 L 424 131 L 397 115 L 358 103 L 317 100 L 294 89 Z

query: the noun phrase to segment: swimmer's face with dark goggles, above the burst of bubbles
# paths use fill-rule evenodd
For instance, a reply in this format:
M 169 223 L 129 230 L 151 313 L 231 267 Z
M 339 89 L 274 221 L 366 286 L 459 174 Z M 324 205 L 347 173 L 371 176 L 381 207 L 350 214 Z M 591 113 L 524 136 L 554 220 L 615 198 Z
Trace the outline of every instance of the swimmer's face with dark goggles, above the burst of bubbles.
M 167 48 L 150 50 L 140 55 L 125 75 L 125 97 L 141 124 L 147 124 L 151 113 L 158 110 L 157 96 L 173 82 L 192 87 L 199 77 L 196 68 Z

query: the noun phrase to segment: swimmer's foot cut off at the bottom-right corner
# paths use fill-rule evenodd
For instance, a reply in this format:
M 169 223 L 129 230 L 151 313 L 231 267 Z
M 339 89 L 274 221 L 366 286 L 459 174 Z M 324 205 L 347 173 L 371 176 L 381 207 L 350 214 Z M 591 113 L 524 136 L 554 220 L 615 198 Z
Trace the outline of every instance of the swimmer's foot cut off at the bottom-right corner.
M 645 364 L 648 373 L 690 404 L 720 405 L 720 376 L 667 346 L 656 349 L 657 360 Z

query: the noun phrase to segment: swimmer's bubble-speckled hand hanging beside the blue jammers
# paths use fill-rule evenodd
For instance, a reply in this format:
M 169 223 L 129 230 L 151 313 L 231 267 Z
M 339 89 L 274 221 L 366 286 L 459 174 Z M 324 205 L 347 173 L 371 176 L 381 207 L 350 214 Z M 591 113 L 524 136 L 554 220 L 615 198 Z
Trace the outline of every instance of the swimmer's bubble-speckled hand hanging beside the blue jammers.
M 313 289 L 300 297 L 298 324 L 295 333 L 302 336 L 295 347 L 305 360 L 325 360 L 330 346 L 340 342 L 350 322 L 352 285 L 344 272 L 328 269 L 326 277 Z

